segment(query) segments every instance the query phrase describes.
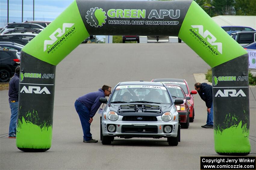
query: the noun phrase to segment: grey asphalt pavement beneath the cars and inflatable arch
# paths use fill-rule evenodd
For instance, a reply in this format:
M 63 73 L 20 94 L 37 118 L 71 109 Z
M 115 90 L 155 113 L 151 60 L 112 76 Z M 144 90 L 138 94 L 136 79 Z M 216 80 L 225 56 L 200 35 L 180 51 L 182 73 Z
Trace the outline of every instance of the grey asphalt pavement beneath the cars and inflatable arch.
M 115 138 L 111 145 L 84 143 L 74 102 L 104 84 L 114 88 L 123 81 L 182 78 L 191 91 L 193 73 L 206 73 L 209 68 L 185 43 L 81 44 L 57 66 L 52 147 L 25 153 L 16 148 L 15 139 L 0 138 L 0 169 L 200 169 L 201 156 L 219 155 L 214 151 L 213 129 L 201 128 L 207 108 L 198 94 L 194 95 L 195 120 L 189 129 L 181 129 L 178 146 L 150 138 Z M 256 97 L 256 88 L 250 87 L 250 135 L 256 136 L 252 95 Z M 9 121 L 8 91 L 0 91 L 0 134 L 8 133 Z M 96 114 L 91 133 L 97 140 L 99 122 Z M 256 142 L 250 142 L 251 153 L 256 153 Z

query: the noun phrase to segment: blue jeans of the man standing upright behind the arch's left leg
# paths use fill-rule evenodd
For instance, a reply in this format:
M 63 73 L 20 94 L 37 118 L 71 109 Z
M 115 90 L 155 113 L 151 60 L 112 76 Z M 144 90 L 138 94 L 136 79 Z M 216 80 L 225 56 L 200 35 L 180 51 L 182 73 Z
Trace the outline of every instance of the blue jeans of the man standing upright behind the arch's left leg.
M 16 134 L 17 118 L 18 118 L 18 102 L 9 102 L 11 109 L 11 120 L 9 125 L 9 136 Z

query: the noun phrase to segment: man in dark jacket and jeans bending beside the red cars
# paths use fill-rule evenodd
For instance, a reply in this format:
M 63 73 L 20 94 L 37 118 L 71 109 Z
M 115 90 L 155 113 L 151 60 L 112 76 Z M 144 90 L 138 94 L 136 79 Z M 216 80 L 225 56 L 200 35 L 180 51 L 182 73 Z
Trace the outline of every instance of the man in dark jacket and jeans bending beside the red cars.
M 195 90 L 204 100 L 207 106 L 207 121 L 203 128 L 213 128 L 213 102 L 212 102 L 212 86 L 207 83 L 195 83 Z

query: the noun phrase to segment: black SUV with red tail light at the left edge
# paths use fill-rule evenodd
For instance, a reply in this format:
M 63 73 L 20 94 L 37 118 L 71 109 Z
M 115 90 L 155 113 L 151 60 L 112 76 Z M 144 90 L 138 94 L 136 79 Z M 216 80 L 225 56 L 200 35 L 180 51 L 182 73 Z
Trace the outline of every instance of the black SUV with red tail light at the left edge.
M 0 48 L 0 82 L 8 82 L 20 65 L 20 57 L 15 49 Z

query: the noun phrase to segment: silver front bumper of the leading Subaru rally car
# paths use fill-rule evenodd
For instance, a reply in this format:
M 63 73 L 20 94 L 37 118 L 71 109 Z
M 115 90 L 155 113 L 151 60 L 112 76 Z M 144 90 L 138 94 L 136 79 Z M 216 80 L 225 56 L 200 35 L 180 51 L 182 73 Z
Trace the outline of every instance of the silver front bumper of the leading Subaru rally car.
M 119 116 L 122 117 L 122 116 Z M 178 121 L 164 122 L 161 120 L 161 116 L 157 117 L 158 121 L 122 121 L 119 118 L 117 121 L 101 120 L 101 128 L 103 136 L 118 136 L 121 138 L 132 137 L 176 137 L 178 134 Z M 114 125 L 115 131 L 109 132 L 108 125 Z M 164 127 L 170 125 L 172 130 L 170 133 L 164 132 Z

